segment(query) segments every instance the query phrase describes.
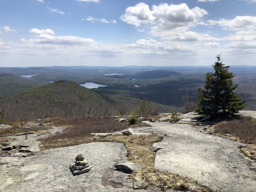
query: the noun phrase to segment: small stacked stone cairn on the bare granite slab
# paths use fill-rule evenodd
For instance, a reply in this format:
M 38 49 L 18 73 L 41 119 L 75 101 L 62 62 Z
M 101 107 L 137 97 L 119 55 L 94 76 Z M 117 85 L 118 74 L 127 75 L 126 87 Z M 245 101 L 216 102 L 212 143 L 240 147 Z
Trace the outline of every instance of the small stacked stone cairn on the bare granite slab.
M 91 168 L 88 162 L 84 161 L 83 155 L 76 156 L 76 161 L 69 165 L 70 171 L 75 175 L 89 172 Z

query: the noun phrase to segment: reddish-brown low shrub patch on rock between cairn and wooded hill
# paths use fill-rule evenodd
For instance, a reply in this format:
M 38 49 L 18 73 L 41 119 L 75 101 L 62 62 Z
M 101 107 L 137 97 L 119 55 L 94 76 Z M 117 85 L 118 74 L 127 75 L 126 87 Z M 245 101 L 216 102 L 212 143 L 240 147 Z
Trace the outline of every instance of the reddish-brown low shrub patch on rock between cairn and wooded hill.
M 78 145 L 81 143 L 93 142 L 91 133 L 107 133 L 116 132 L 128 128 L 128 122 L 119 123 L 115 118 L 52 118 L 47 119 L 54 125 L 67 126 L 62 133 L 51 135 L 47 138 L 42 138 L 40 141 L 44 148 L 56 148 Z

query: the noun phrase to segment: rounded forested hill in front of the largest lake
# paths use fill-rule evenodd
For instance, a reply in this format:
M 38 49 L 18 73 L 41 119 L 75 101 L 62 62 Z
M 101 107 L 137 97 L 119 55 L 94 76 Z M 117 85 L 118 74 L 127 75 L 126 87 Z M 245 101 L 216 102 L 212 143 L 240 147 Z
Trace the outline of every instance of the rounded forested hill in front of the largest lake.
M 75 82 L 57 81 L 12 95 L 5 98 L 4 102 L 12 110 L 10 119 L 15 120 L 97 116 L 108 112 L 104 106 L 108 106 L 111 101 Z

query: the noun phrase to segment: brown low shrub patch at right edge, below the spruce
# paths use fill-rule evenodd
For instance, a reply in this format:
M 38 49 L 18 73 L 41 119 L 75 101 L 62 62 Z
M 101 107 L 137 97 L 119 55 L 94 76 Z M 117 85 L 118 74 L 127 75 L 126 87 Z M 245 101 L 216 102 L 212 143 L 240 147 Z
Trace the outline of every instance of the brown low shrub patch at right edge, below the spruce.
M 252 124 L 252 117 L 240 116 L 230 121 L 221 122 L 214 128 L 215 133 L 230 134 L 242 142 L 256 144 L 256 125 Z

